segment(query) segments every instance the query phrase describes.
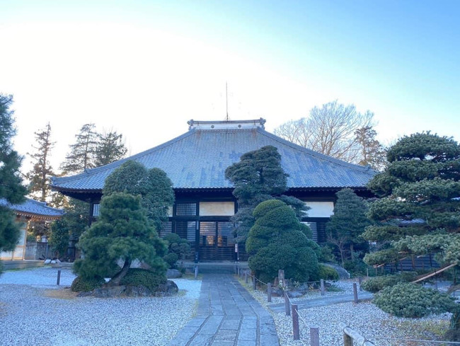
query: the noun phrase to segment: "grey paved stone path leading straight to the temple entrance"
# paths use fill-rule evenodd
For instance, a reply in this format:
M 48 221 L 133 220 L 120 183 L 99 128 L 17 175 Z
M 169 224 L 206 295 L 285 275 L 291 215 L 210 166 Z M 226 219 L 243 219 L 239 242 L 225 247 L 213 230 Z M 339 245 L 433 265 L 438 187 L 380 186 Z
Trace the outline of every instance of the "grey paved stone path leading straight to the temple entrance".
M 197 316 L 168 346 L 279 346 L 273 318 L 229 274 L 205 274 Z

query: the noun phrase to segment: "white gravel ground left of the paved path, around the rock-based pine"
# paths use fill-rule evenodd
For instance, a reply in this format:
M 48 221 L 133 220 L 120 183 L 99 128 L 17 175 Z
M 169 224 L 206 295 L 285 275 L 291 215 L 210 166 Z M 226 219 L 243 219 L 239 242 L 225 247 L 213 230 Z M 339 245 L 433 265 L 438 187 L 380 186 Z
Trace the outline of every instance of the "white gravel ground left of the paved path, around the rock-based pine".
M 201 288 L 199 280 L 173 279 L 180 292 L 172 297 L 75 298 L 64 288 L 74 277 L 62 269 L 58 287 L 57 268 L 4 272 L 0 345 L 165 345 L 195 314 Z

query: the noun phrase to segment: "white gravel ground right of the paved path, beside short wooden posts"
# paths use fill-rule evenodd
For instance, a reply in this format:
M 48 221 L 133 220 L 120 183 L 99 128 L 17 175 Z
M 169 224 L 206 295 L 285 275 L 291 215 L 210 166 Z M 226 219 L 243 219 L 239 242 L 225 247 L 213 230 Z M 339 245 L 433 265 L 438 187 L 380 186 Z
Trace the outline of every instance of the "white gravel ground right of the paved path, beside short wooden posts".
M 352 283 L 353 280 L 335 282 L 334 286 L 343 289 L 343 291 L 326 292 L 326 296 L 352 294 Z M 250 284 L 246 285 L 246 289 L 263 306 L 268 307 L 267 296 L 264 292 L 254 292 Z M 299 299 L 292 299 L 292 301 L 320 297 L 320 292 L 309 292 L 306 296 Z M 282 302 L 284 302 L 284 299 L 273 297 L 270 304 Z M 272 313 L 270 309 L 268 311 Z M 448 327 L 450 318 L 449 313 L 418 319 L 396 318 L 381 311 L 369 302 L 308 308 L 300 310 L 299 313 L 301 338 L 296 341 L 294 341 L 292 333 L 292 316 L 285 316 L 284 313 L 272 313 L 281 346 L 310 345 L 309 329 L 311 327 L 319 328 L 320 345 L 341 346 L 343 345 L 343 333 L 339 327 L 340 322 L 347 323 L 365 338 L 374 341 L 375 345 L 435 345 L 427 342 L 410 342 L 401 339 L 439 340 L 442 333 Z M 397 338 L 399 340 L 388 340 L 388 338 Z

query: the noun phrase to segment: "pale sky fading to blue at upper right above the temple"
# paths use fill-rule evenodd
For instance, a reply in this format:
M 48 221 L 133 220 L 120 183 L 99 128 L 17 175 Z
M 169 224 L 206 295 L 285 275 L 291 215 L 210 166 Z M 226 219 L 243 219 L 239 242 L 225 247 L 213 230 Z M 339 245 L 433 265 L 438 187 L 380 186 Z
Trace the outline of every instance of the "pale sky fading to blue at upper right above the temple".
M 59 171 L 82 125 L 130 154 L 187 121 L 263 117 L 272 132 L 333 100 L 374 113 L 386 143 L 460 140 L 460 1 L 0 0 L 0 93 L 15 149 L 52 127 Z

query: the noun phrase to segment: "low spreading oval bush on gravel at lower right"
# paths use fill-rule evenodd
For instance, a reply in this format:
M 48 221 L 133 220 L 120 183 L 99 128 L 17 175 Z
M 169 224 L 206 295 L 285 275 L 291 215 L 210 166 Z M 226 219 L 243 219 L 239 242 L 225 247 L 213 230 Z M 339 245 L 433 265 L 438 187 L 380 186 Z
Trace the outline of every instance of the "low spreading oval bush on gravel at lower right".
M 456 308 L 454 299 L 446 294 L 418 284 L 401 282 L 382 289 L 374 298 L 374 304 L 391 315 L 409 318 L 444 313 Z

